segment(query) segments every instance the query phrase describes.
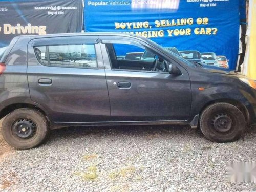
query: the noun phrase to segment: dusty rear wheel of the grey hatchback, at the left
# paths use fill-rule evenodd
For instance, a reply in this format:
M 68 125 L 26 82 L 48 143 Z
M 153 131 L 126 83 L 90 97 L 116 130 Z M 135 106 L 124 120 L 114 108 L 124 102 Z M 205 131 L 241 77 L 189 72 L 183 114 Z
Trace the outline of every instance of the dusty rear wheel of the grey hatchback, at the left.
M 23 127 L 22 130 L 20 130 Z M 28 131 L 24 131 L 24 130 Z M 22 132 L 22 133 L 20 133 Z M 26 133 L 26 134 L 25 134 Z M 26 150 L 44 141 L 48 134 L 48 121 L 39 111 L 20 108 L 9 113 L 2 123 L 2 135 L 14 148 Z

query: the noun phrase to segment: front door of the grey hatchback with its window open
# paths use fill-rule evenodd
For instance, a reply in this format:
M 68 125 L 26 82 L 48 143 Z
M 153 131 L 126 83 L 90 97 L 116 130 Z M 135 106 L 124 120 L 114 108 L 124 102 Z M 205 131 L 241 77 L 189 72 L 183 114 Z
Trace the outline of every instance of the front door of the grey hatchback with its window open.
M 164 63 L 159 59 L 162 63 L 158 62 L 154 70 L 157 57 L 164 56 L 143 41 L 128 37 L 101 37 L 101 49 L 114 121 L 184 121 L 189 118 L 190 80 L 187 71 L 178 63 L 166 58 Z M 139 60 L 120 57 L 131 52 L 146 54 Z M 170 63 L 182 74 L 169 74 L 166 65 Z

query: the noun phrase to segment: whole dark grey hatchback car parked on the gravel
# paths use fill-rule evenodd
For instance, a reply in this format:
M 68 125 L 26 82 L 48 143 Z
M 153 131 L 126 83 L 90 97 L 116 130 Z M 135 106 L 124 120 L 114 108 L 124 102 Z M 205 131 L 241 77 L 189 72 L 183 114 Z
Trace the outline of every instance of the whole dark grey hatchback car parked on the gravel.
M 151 52 L 154 60 L 118 59 Z M 2 134 L 32 148 L 64 126 L 190 124 L 214 142 L 256 123 L 256 82 L 119 33 L 15 37 L 0 60 Z

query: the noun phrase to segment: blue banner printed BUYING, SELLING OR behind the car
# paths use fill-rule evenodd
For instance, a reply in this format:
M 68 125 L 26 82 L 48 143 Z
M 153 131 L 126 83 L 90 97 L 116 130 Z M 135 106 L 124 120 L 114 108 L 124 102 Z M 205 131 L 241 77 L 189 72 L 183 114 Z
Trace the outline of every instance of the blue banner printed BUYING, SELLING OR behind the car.
M 238 0 L 84 0 L 86 32 L 129 32 L 179 51 L 214 52 L 236 68 Z

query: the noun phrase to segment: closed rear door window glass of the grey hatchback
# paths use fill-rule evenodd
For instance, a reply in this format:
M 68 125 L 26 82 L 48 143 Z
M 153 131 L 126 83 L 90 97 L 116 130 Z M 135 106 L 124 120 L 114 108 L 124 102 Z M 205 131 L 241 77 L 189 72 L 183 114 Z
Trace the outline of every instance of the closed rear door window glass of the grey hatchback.
M 36 46 L 34 50 L 42 65 L 97 69 L 94 44 Z

